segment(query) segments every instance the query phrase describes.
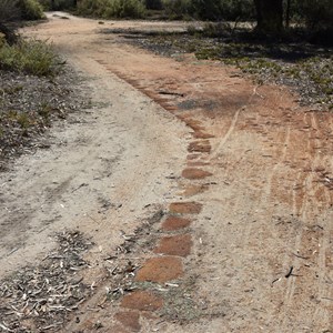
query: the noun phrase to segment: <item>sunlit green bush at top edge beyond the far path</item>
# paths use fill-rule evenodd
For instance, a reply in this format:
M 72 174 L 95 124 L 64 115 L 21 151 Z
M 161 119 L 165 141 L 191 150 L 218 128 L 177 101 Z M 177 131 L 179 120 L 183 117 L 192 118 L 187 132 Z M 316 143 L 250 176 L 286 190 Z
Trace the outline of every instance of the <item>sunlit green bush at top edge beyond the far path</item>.
M 78 12 L 104 19 L 144 17 L 145 8 L 140 0 L 82 0 L 78 3 Z

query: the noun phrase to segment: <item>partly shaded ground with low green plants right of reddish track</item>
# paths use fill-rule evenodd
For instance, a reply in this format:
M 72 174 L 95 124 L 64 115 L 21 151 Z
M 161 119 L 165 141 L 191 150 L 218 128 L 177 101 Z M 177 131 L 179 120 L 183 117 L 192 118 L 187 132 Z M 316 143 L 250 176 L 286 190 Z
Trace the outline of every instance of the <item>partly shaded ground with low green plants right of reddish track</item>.
M 199 60 L 235 65 L 259 82 L 290 85 L 301 103 L 333 109 L 333 56 L 330 49 L 304 42 L 304 37 L 255 38 L 249 29 L 233 30 L 223 23 L 203 29 L 190 27 L 183 34 L 147 36 L 134 41 L 163 56 L 194 53 Z

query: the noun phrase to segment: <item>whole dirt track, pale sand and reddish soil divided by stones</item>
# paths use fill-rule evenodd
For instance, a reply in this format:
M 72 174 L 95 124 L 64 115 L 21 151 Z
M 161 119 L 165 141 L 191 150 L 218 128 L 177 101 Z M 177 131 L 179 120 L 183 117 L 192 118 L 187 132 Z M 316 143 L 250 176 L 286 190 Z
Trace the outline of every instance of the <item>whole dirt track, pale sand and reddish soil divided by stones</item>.
M 163 291 L 143 305 L 130 293 L 88 311 L 103 299 L 103 282 L 63 332 L 93 332 L 98 321 L 99 332 L 333 332 L 332 114 L 301 109 L 286 89 L 255 87 L 220 63 L 160 58 L 100 33 L 160 26 L 51 16 L 26 29 L 50 38 L 87 77 L 93 108 L 3 176 L 1 275 L 43 258 L 53 231 L 78 228 L 97 243 L 85 279 L 98 281 L 121 231 L 133 233 L 162 208 L 164 224 L 151 231 L 158 245 L 142 250 L 148 261 L 135 279 L 192 281 L 182 297 L 200 311 L 161 320 L 154 310 L 175 306 Z M 191 225 L 170 232 L 165 219 L 174 216 Z M 151 273 L 151 260 L 163 258 L 179 274 Z

